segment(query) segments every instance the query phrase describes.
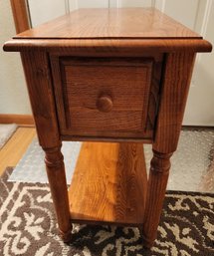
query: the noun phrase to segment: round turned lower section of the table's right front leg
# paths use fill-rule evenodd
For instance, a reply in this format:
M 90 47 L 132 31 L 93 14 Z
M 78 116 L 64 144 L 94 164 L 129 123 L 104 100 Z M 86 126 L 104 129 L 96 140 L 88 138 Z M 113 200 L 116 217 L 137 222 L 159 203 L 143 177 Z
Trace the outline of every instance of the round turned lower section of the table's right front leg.
M 153 150 L 142 226 L 143 245 L 147 248 L 153 245 L 156 238 L 168 180 L 171 155 L 172 153 L 160 153 Z

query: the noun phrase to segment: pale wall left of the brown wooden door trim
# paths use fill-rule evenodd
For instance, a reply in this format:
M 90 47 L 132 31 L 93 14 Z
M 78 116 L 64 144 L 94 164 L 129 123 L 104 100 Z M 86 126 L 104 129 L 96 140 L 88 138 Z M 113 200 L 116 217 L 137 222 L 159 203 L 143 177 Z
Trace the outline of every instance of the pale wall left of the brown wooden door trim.
M 0 114 L 30 114 L 20 56 L 2 50 L 4 42 L 16 34 L 10 1 L 0 1 L 0 10 Z

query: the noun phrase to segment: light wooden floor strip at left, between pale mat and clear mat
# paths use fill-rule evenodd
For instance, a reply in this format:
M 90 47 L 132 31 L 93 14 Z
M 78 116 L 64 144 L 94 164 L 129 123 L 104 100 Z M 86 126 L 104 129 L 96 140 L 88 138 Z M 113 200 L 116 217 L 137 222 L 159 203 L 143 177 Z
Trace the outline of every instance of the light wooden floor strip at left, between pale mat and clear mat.
M 36 135 L 35 128 L 17 128 L 13 136 L 0 149 L 0 175 L 7 166 L 15 166 Z

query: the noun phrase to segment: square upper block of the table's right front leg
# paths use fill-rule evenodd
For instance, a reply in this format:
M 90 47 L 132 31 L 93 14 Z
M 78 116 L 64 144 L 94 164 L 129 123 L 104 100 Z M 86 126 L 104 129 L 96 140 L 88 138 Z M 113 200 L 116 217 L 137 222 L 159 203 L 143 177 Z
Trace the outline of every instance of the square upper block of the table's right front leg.
M 153 149 L 171 153 L 177 148 L 195 61 L 193 53 L 168 54 L 161 85 Z

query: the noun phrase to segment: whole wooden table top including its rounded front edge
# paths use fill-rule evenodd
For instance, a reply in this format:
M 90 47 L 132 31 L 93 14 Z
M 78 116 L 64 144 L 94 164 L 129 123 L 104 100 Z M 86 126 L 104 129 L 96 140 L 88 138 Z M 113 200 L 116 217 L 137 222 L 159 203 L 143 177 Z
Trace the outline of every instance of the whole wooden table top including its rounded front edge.
M 212 45 L 154 8 L 79 9 L 13 37 L 10 52 L 68 52 L 76 56 L 112 53 L 210 52 Z

